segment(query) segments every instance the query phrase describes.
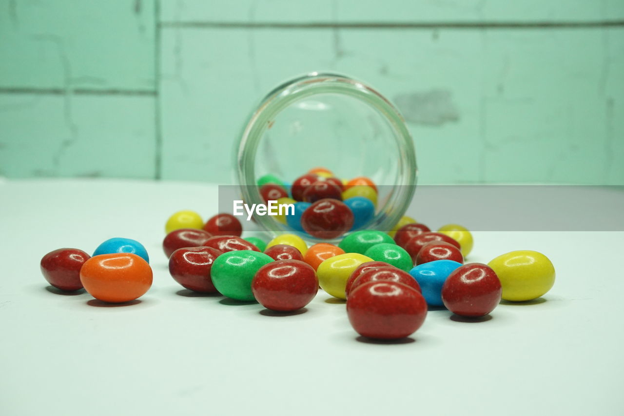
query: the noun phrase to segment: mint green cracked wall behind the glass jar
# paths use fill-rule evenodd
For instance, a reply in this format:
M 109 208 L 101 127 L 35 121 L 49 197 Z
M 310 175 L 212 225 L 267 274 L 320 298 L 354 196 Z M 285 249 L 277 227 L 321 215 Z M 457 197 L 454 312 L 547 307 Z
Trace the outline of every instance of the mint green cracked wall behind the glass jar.
M 624 184 L 621 0 L 0 0 L 0 176 L 230 182 L 318 69 L 399 104 L 421 183 Z

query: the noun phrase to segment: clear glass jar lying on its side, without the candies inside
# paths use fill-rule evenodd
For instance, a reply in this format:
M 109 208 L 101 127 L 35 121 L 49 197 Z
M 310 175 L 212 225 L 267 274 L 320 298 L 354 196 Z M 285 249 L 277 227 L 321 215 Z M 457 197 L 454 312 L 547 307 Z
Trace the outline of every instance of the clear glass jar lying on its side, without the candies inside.
M 312 72 L 269 92 L 251 114 L 237 162 L 249 205 L 265 204 L 256 183 L 266 174 L 292 182 L 322 166 L 339 178 L 369 177 L 379 191 L 366 229 L 390 230 L 416 186 L 414 143 L 401 113 L 372 87 L 339 74 Z M 296 233 L 274 216 L 254 219 L 271 236 L 293 232 L 308 242 L 328 241 Z

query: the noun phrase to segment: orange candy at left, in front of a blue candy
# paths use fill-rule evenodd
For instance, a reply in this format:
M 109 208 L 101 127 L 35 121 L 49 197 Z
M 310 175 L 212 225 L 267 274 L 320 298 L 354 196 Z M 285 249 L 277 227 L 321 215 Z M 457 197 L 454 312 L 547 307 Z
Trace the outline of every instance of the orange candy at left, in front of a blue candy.
M 136 254 L 95 255 L 82 265 L 80 282 L 95 299 L 128 302 L 152 286 L 152 267 Z

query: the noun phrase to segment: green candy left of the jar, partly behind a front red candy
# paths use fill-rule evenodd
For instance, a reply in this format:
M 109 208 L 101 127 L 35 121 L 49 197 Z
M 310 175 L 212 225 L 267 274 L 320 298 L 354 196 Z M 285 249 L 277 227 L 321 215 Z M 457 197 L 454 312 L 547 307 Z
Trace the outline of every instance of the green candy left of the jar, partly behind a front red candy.
M 212 264 L 210 275 L 217 290 L 236 300 L 256 300 L 251 293 L 251 280 L 260 267 L 272 262 L 268 255 L 252 250 L 223 253 Z

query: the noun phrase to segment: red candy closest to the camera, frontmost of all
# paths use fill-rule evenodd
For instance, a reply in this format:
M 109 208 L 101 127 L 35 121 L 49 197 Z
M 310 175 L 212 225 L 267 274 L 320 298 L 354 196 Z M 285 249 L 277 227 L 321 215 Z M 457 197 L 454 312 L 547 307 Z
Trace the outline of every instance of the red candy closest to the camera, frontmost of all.
M 401 339 L 419 329 L 427 303 L 409 286 L 396 282 L 368 282 L 351 292 L 347 315 L 363 337 Z

